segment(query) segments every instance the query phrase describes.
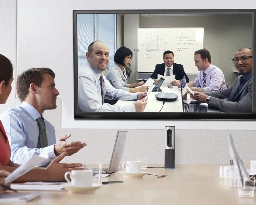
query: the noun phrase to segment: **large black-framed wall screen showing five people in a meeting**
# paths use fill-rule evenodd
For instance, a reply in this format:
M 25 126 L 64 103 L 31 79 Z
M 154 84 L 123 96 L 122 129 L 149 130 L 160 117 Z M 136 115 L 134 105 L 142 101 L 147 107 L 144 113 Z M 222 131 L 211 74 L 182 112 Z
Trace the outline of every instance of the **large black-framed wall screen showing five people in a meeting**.
M 254 14 L 73 10 L 75 119 L 255 119 Z

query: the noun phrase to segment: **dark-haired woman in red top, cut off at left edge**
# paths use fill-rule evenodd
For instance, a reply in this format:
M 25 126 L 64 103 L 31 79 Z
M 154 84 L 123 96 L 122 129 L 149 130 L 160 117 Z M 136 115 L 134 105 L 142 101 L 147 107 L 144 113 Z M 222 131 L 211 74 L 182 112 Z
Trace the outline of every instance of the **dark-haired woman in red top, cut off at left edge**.
M 13 68 L 10 60 L 0 54 L 0 104 L 6 103 L 12 90 L 13 81 Z M 11 160 L 11 148 L 8 138 L 6 136 L 5 129 L 0 121 L 0 170 L 6 170 L 9 172 L 14 171 L 19 165 L 14 164 Z M 62 153 L 56 159 L 54 159 L 47 168 L 34 168 L 27 174 L 19 177 L 15 182 L 23 181 L 60 181 L 64 180 L 64 173 L 71 169 L 81 169 L 82 164 L 65 164 L 59 163 L 65 154 Z M 8 172 L 1 171 L 0 183 L 3 181 Z M 1 174 L 0 173 L 0 174 Z

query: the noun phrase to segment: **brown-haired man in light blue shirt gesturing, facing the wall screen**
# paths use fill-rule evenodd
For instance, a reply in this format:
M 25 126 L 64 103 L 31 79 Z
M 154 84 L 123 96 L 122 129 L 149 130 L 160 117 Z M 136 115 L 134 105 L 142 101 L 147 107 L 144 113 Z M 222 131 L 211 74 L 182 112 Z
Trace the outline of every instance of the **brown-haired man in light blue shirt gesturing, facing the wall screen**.
M 54 127 L 42 118 L 45 110 L 57 107 L 59 92 L 54 78 L 55 73 L 49 68 L 28 69 L 17 78 L 17 94 L 22 104 L 0 115 L 14 163 L 22 164 L 42 152 L 47 152 L 51 161 L 63 152 L 69 156 L 86 146 L 80 141 L 66 142 L 70 134 L 56 142 Z

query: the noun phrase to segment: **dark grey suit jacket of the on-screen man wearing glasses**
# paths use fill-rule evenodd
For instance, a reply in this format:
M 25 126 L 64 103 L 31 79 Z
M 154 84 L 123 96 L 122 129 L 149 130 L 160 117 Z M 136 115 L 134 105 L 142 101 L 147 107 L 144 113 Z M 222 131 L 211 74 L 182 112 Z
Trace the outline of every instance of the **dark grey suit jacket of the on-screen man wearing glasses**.
M 252 77 L 246 81 L 238 95 L 236 91 L 240 82 L 239 76 L 234 83 L 225 90 L 217 90 L 206 95 L 212 96 L 209 101 L 209 107 L 219 108 L 224 112 L 252 112 Z M 221 100 L 228 98 L 228 101 Z

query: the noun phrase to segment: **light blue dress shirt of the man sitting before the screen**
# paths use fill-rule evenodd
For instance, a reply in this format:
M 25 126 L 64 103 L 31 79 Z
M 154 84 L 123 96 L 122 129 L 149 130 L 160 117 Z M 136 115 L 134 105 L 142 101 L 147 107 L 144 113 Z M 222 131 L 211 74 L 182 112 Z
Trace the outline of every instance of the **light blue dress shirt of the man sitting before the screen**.
M 39 128 L 37 121 L 18 118 L 16 114 L 5 112 L 1 115 L 1 121 L 5 128 L 12 155 L 11 161 L 13 163 L 22 164 L 28 161 L 33 155 L 39 155 L 42 152 L 47 152 L 49 161 L 56 158 L 54 154 L 54 145 L 56 143 L 55 130 L 53 126 L 46 122 L 48 145 L 45 148 L 37 148 Z

